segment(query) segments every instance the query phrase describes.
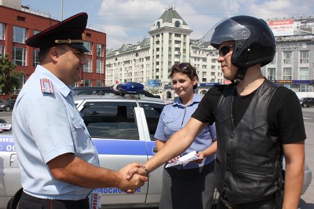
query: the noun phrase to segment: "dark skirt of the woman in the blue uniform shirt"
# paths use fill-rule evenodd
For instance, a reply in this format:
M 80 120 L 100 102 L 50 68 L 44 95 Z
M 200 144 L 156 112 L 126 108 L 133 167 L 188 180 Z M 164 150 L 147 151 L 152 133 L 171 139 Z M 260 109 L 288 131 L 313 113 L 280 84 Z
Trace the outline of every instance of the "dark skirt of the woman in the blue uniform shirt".
M 211 209 L 214 161 L 197 169 L 163 170 L 160 209 Z

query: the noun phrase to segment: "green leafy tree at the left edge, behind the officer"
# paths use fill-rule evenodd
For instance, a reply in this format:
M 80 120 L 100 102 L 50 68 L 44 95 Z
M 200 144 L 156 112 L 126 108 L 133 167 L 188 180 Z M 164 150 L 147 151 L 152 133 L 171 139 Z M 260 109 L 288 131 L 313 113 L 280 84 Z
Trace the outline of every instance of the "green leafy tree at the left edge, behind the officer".
M 8 54 L 0 55 L 0 90 L 1 93 L 10 94 L 20 86 L 20 77 L 24 72 L 17 72 L 16 65 L 10 61 Z

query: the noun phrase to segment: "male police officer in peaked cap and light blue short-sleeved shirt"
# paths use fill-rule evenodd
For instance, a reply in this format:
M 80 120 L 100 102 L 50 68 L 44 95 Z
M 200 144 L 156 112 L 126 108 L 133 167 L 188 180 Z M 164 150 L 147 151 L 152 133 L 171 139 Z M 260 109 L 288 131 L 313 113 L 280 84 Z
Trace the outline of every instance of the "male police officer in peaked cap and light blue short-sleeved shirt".
M 20 91 L 13 110 L 13 137 L 20 161 L 23 192 L 17 208 L 89 208 L 95 187 L 134 192 L 146 176 L 126 180 L 120 171 L 99 167 L 87 127 L 73 101 L 80 81 L 87 13 L 59 22 L 27 40 L 40 49 L 40 65 Z

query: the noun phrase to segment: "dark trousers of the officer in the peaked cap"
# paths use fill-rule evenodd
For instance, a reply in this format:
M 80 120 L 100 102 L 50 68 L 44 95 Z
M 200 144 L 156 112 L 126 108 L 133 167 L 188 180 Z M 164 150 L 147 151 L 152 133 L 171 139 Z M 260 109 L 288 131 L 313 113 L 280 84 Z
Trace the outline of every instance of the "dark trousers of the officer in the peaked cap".
M 89 209 L 89 200 L 78 201 L 40 199 L 22 192 L 17 209 Z

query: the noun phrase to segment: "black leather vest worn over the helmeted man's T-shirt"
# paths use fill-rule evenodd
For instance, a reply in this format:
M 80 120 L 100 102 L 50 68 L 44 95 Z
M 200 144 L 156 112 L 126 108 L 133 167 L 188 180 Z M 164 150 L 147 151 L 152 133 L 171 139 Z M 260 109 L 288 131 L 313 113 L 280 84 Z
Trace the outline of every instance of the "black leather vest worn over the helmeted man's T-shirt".
M 237 127 L 232 123 L 234 86 L 227 86 L 214 111 L 218 149 L 215 183 L 230 203 L 259 201 L 273 196 L 282 185 L 282 148 L 269 135 L 267 109 L 277 86 L 269 80 L 257 89 Z

